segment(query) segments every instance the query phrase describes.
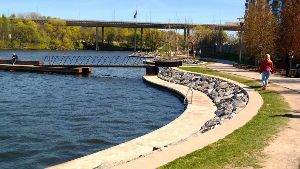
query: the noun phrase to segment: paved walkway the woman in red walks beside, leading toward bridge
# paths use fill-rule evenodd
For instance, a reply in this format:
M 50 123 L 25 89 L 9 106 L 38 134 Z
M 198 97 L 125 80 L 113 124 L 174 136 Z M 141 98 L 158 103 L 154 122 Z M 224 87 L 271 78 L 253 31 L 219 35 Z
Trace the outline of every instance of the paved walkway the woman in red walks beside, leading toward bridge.
M 260 75 L 258 72 L 234 68 L 233 61 L 210 59 L 210 58 L 201 58 L 201 59 L 213 60 L 213 61 L 217 62 L 217 63 L 213 63 L 213 64 L 205 66 L 209 69 L 213 69 L 213 70 L 217 70 L 217 71 L 225 72 L 225 73 L 231 73 L 231 74 L 235 74 L 235 75 L 240 75 L 240 76 L 246 76 L 246 77 L 257 79 L 257 80 L 261 80 L 261 78 L 262 78 L 262 75 Z M 280 76 L 280 75 L 271 75 L 269 78 L 269 83 L 274 83 L 278 86 L 282 86 L 282 87 L 289 88 L 294 91 L 300 92 L 300 79 L 299 78 L 289 78 L 289 77 Z

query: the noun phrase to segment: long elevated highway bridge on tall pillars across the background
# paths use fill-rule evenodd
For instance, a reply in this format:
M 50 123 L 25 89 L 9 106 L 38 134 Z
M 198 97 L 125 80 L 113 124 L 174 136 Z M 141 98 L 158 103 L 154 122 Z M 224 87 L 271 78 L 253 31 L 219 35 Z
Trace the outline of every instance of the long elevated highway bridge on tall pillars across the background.
M 14 18 L 9 18 L 13 20 Z M 24 19 L 22 19 L 24 20 Z M 36 23 L 48 23 L 51 19 L 31 19 Z M 224 31 L 237 31 L 240 30 L 238 22 L 226 22 L 226 24 L 196 24 L 196 23 L 158 23 L 158 22 L 130 22 L 130 21 L 104 21 L 104 20 L 69 20 L 62 19 L 66 22 L 67 26 L 89 26 L 96 27 L 96 37 L 98 37 L 98 27 L 102 27 L 102 44 L 104 43 L 104 27 L 123 27 L 134 28 L 134 51 L 137 49 L 137 28 L 141 29 L 141 46 L 143 49 L 143 28 L 151 29 L 183 29 L 183 48 L 185 49 L 186 30 L 189 33 L 189 29 L 198 25 L 205 28 L 224 30 Z M 227 24 L 228 23 L 228 24 Z M 96 38 L 95 50 L 98 49 L 98 38 Z

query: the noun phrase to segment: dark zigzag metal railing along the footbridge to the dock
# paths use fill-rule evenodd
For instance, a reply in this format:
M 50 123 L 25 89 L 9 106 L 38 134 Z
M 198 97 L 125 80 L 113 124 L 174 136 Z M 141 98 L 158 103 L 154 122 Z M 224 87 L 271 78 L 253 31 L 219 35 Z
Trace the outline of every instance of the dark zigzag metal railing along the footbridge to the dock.
M 42 66 L 100 66 L 149 65 L 149 58 L 131 56 L 44 56 Z

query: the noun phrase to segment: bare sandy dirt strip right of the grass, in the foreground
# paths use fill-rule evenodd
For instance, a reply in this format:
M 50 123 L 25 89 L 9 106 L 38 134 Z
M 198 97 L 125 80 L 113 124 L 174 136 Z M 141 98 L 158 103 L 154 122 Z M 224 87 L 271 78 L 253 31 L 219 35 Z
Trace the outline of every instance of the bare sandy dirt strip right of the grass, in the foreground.
M 289 118 L 287 128 L 281 131 L 263 153 L 267 159 L 262 162 L 263 168 L 298 169 L 300 163 L 300 94 L 283 87 L 268 87 L 283 95 L 291 110 L 284 115 Z M 271 118 L 271 117 L 270 117 Z

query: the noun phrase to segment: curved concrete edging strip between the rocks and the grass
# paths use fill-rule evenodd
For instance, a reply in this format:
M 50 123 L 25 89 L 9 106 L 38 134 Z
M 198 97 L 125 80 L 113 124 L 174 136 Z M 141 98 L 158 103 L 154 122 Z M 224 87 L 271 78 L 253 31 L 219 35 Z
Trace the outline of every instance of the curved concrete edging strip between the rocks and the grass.
M 173 68 L 173 69 L 182 71 L 181 69 L 178 68 Z M 189 72 L 189 71 L 185 71 L 185 72 Z M 193 73 L 195 75 L 200 75 L 199 73 L 194 73 L 194 72 L 190 72 L 190 73 Z M 206 75 L 206 74 L 201 74 L 201 75 Z M 207 146 L 208 144 L 214 143 L 217 140 L 226 137 L 228 134 L 232 133 L 236 129 L 245 125 L 248 121 L 252 119 L 253 116 L 257 114 L 257 112 L 259 111 L 260 107 L 263 104 L 262 97 L 258 92 L 254 91 L 248 86 L 245 86 L 244 84 L 238 83 L 236 81 L 232 81 L 230 79 L 222 78 L 219 76 L 212 76 L 212 75 L 207 75 L 207 76 L 223 79 L 243 88 L 249 95 L 249 102 L 247 103 L 247 106 L 244 107 L 244 109 L 240 113 L 238 113 L 238 115 L 236 115 L 234 118 L 224 122 L 222 125 L 220 125 L 217 128 L 214 128 L 210 131 L 207 131 L 204 134 L 201 134 L 195 138 L 187 140 L 183 143 L 180 143 L 178 145 L 175 145 L 163 151 L 156 152 L 149 156 L 112 167 L 112 169 L 127 169 L 127 168 L 128 169 L 140 169 L 140 168 L 155 169 L 164 164 L 167 164 L 170 161 L 175 160 L 176 158 L 187 155 L 198 149 L 202 149 L 204 146 Z M 153 79 L 158 79 L 158 77 L 155 77 Z

